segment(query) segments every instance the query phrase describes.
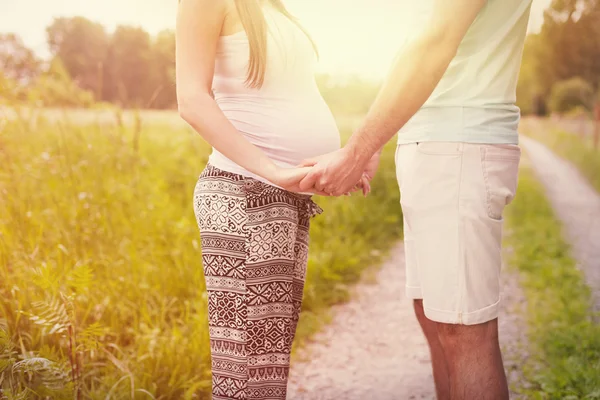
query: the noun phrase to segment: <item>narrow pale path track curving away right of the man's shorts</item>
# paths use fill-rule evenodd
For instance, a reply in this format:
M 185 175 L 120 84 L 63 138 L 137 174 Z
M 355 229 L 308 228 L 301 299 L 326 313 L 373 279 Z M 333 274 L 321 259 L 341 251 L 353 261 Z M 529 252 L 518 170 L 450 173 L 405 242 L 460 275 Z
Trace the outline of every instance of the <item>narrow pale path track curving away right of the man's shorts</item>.
M 592 288 L 595 309 L 600 311 L 600 194 L 575 166 L 544 145 L 527 137 L 521 137 L 521 145 L 546 188 L 579 267 Z

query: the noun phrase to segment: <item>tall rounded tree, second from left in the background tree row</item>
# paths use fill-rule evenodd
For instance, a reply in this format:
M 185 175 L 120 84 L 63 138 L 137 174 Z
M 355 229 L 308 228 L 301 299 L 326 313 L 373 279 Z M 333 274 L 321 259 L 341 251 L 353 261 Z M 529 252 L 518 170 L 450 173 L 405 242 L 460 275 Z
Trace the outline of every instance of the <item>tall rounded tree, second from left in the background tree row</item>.
M 83 17 L 56 18 L 46 33 L 50 51 L 62 60 L 71 78 L 99 97 L 108 49 L 104 27 Z

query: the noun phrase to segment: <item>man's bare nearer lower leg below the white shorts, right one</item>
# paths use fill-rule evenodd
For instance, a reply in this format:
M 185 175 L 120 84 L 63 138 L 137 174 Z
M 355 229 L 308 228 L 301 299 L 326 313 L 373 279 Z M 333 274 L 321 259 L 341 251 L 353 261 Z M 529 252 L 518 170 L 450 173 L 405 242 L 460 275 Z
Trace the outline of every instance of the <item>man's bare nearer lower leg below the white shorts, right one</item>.
M 436 323 L 452 400 L 508 400 L 498 320 L 479 325 Z

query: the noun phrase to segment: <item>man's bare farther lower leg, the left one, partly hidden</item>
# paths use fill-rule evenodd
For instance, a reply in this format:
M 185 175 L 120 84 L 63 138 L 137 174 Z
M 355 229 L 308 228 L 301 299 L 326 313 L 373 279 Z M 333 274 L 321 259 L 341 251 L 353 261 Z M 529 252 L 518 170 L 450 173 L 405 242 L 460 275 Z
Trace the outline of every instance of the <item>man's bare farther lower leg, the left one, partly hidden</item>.
M 435 393 L 438 400 L 449 400 L 450 397 L 450 377 L 448 373 L 448 363 L 444 349 L 438 337 L 437 322 L 433 322 L 425 316 L 423 311 L 423 300 L 414 301 L 415 314 L 417 320 L 423 329 L 429 352 L 431 354 L 431 364 L 433 366 L 433 380 L 435 381 Z

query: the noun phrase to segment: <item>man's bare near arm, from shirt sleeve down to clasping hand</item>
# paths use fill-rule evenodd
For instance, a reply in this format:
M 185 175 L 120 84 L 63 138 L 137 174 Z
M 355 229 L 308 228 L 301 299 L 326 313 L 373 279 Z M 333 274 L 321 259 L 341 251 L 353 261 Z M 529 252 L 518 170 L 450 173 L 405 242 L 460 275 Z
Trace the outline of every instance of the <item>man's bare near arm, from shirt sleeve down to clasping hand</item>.
M 435 0 L 429 27 L 396 58 L 361 127 L 344 149 L 325 157 L 300 187 L 339 195 L 429 98 L 486 0 Z

